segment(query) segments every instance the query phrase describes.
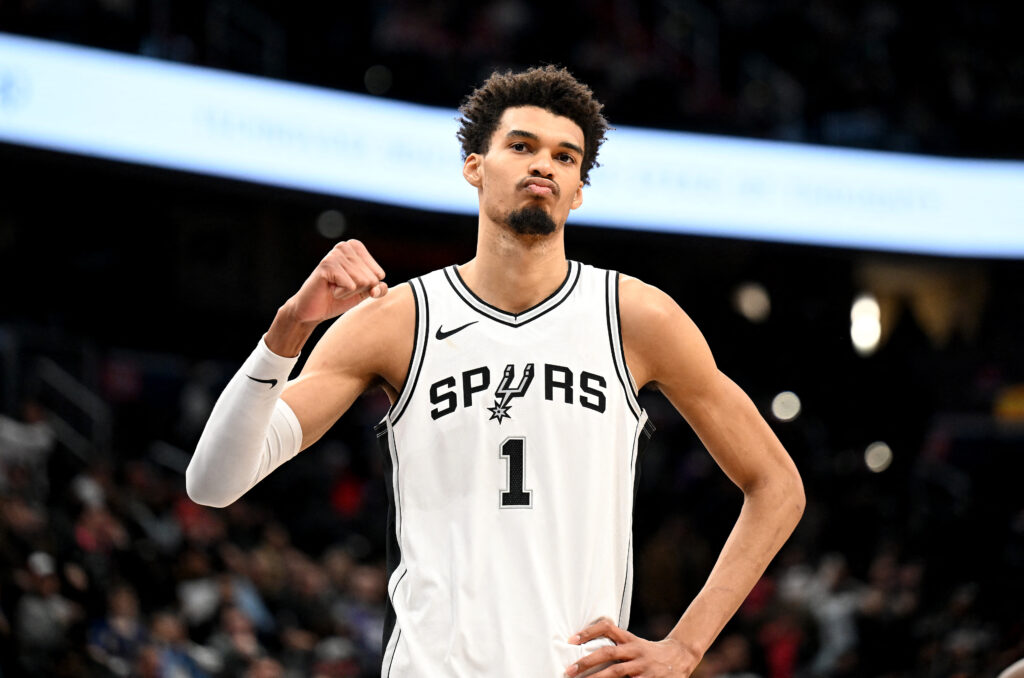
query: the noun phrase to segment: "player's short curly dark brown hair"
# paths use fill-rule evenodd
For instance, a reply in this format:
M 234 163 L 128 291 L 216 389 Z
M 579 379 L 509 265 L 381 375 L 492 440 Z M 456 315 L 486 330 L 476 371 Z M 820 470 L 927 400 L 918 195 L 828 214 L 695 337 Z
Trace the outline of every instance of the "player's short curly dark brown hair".
M 604 141 L 608 121 L 601 114 L 603 104 L 594 98 L 590 87 L 556 66 L 532 68 L 521 73 L 495 72 L 473 90 L 459 107 L 459 132 L 462 158 L 472 153 L 484 154 L 498 121 L 506 109 L 536 105 L 556 116 L 568 118 L 583 130 L 584 154 L 580 178 L 590 183 L 590 170 L 598 167 L 597 150 Z

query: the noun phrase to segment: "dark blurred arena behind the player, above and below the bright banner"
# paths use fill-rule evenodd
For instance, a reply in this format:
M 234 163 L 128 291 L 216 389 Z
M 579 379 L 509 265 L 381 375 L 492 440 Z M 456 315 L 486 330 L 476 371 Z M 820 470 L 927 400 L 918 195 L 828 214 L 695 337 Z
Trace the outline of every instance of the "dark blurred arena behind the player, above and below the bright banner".
M 612 125 L 1000 161 L 1024 160 L 1021 18 L 996 0 L 0 2 L 0 33 L 384 99 L 454 109 L 495 68 L 556 62 Z M 0 48 L 0 101 L 4 66 Z M 182 473 L 333 242 L 362 240 L 394 285 L 469 259 L 475 220 L 13 142 L 0 167 L 0 676 L 375 675 L 383 394 L 228 509 L 190 503 Z M 566 239 L 672 294 L 804 475 L 801 525 L 696 675 L 995 676 L 1024 656 L 1019 256 L 572 218 Z M 740 494 L 643 399 L 631 630 L 653 638 Z

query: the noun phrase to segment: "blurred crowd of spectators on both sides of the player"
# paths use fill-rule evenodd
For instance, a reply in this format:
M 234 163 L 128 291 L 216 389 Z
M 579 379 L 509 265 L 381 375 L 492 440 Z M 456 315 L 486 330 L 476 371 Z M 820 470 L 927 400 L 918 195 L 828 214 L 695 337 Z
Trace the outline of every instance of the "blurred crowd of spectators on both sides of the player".
M 181 412 L 214 395 L 183 382 Z M 659 396 L 643 399 L 660 430 L 641 461 L 631 629 L 658 638 L 699 590 L 739 495 Z M 96 461 L 62 449 L 32 407 L 5 417 L 0 675 L 378 675 L 385 480 L 357 430 L 383 407 L 382 396 L 360 399 L 351 426 L 223 510 L 184 494 L 187 453 L 176 443 L 187 426 L 141 454 Z M 809 444 L 787 444 L 807 517 L 695 675 L 994 676 L 1024 655 L 1019 503 L 997 513 L 1007 524 L 986 526 L 994 549 L 979 548 L 961 533 L 981 524 L 986 489 L 956 495 L 949 478 L 930 477 L 959 473 L 951 459 L 916 462 L 900 491 L 937 493 L 914 506 L 953 542 L 944 543 L 914 534 L 914 515 L 880 518 L 886 500 L 864 496 L 877 481 L 842 454 L 816 465 Z M 947 518 L 950 501 L 962 506 Z

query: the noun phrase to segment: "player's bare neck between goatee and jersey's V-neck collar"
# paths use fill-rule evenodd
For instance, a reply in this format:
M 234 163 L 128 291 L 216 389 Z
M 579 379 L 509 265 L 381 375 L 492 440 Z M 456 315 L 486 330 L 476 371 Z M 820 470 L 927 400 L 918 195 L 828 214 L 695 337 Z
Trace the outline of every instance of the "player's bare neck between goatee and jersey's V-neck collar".
M 476 256 L 459 274 L 478 297 L 509 313 L 548 298 L 565 280 L 565 243 L 559 227 L 550 236 L 520 236 L 480 220 Z

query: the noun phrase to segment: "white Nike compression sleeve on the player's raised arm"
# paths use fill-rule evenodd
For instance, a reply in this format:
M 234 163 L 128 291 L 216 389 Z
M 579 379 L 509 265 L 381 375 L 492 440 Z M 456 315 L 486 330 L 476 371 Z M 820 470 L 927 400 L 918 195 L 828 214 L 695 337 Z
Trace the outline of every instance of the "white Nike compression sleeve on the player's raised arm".
M 185 469 L 194 502 L 227 506 L 299 453 L 302 428 L 281 399 L 297 361 L 278 355 L 260 339 L 224 387 Z

